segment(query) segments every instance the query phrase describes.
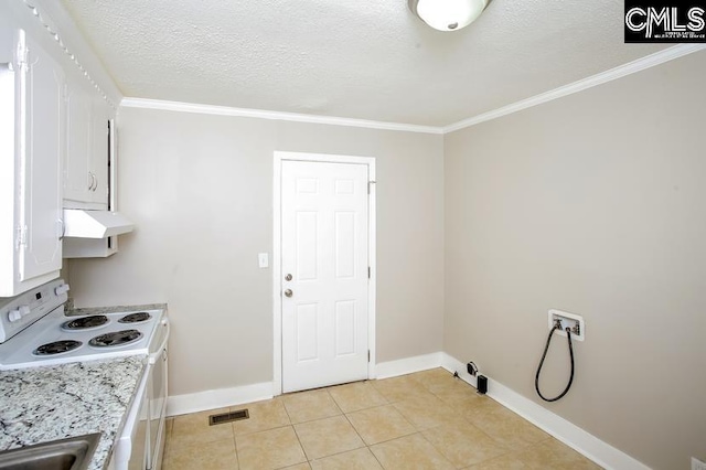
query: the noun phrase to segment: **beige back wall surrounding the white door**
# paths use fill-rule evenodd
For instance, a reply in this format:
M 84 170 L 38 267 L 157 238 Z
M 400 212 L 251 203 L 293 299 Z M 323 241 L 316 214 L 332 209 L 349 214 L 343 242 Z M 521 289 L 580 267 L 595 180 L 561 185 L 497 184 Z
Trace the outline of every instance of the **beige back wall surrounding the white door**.
M 173 395 L 272 380 L 272 152 L 376 158 L 377 355 L 437 352 L 442 136 L 124 108 L 119 207 L 137 229 L 72 260 L 78 307 L 169 302 Z

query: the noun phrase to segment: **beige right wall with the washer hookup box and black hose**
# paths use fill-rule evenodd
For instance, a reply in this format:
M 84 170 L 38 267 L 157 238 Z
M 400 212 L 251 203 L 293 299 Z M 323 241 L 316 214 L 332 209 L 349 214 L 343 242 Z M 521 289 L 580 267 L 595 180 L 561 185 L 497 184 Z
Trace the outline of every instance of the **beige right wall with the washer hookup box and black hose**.
M 654 469 L 706 456 L 706 52 L 448 135 L 445 350 Z M 553 342 L 547 395 L 566 384 Z

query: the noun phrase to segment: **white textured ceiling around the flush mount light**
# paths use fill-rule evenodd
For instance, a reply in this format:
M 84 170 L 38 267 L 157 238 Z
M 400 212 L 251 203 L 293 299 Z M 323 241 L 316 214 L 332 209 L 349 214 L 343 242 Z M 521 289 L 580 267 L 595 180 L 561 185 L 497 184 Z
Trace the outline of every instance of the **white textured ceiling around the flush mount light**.
M 623 0 L 494 0 L 468 28 L 407 0 L 62 0 L 125 96 L 446 126 L 654 53 Z

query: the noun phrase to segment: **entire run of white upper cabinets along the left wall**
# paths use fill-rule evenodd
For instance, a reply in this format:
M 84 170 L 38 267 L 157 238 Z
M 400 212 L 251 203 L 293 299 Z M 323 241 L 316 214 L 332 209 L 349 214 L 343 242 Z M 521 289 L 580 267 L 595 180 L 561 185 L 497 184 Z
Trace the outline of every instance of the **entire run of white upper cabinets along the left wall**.
M 115 236 L 64 238 L 64 210 L 115 211 L 120 95 L 58 3 L 0 2 L 0 297 L 58 277 L 63 254 L 117 252 Z

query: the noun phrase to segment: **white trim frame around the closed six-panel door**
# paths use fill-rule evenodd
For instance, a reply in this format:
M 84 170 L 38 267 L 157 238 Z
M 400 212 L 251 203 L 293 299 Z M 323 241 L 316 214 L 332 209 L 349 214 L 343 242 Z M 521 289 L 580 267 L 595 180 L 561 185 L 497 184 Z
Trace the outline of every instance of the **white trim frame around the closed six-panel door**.
M 375 212 L 375 158 L 352 157 L 328 153 L 304 153 L 275 151 L 272 179 L 272 395 L 282 393 L 282 297 L 281 297 L 281 175 L 282 161 L 308 161 L 321 163 L 352 163 L 367 165 L 370 196 L 367 197 L 367 263 L 371 268 L 367 289 L 367 344 L 370 361 L 367 362 L 367 378 L 375 378 L 375 303 L 376 303 L 376 212 Z

